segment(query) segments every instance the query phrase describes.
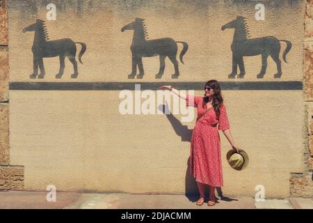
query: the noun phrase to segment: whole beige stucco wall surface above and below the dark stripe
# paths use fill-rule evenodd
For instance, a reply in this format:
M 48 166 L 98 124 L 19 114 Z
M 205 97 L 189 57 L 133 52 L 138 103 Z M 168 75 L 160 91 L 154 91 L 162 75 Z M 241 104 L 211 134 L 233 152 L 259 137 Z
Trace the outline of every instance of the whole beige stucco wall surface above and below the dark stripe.
M 58 1 L 56 1 L 58 2 Z M 147 1 L 131 7 L 94 1 L 92 7 L 60 4 L 57 20 L 47 22 L 51 40 L 72 38 L 86 43 L 79 78 L 70 79 L 67 61 L 63 79 L 55 79 L 58 59 L 45 59 L 45 79 L 29 79 L 32 72 L 33 33 L 22 28 L 36 18 L 45 19 L 45 4 L 31 7 L 10 1 L 9 55 L 11 82 L 136 82 L 131 71 L 129 46 L 132 31 L 122 26 L 134 17 L 146 20 L 150 39 L 172 37 L 189 44 L 179 63 L 181 77 L 171 79 L 172 64 L 166 60 L 161 81 L 235 82 L 303 80 L 303 1 L 267 2 L 266 20 L 256 22 L 255 2 Z M 134 4 L 136 5 L 136 4 Z M 58 6 L 58 5 L 57 5 Z M 65 7 L 66 6 L 66 7 Z M 23 8 L 24 7 L 24 8 Z M 88 8 L 89 7 L 89 8 Z M 264 79 L 257 79 L 261 57 L 245 59 L 244 79 L 228 79 L 231 71 L 233 30 L 220 27 L 236 15 L 248 18 L 253 37 L 277 36 L 293 43 L 282 62 L 283 75 L 274 79 L 275 63 L 268 59 Z M 282 44 L 284 50 L 284 44 Z M 154 79 L 157 57 L 143 59 L 143 82 Z M 10 91 L 10 162 L 24 166 L 24 188 L 98 192 L 184 193 L 195 191 L 188 176 L 190 144 L 175 134 L 166 115 L 122 116 L 120 91 Z M 195 94 L 202 95 L 201 91 Z M 288 197 L 291 173 L 303 171 L 305 107 L 303 91 L 223 91 L 236 144 L 250 157 L 247 169 L 234 171 L 225 160 L 230 149 L 222 139 L 224 194 L 254 196 L 264 185 L 266 197 Z M 179 116 L 177 116 L 179 118 Z M 194 121 L 183 123 L 192 129 Z

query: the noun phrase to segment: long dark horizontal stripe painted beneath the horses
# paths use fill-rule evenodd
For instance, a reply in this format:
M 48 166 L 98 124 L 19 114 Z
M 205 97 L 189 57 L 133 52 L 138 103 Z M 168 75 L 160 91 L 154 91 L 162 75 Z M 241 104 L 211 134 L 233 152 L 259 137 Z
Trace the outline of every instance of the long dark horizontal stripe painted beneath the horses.
M 203 90 L 205 82 L 10 82 L 10 90 L 20 91 L 118 91 L 157 90 L 172 85 L 181 90 Z M 302 82 L 220 82 L 223 90 L 302 90 Z

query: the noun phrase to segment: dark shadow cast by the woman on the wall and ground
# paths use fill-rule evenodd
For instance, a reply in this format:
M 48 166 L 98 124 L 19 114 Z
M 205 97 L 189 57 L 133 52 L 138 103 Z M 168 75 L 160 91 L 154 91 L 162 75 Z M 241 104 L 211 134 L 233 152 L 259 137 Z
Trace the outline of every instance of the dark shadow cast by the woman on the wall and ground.
M 182 123 L 171 113 L 169 112 L 168 105 L 159 105 L 159 110 L 166 114 L 166 118 L 170 121 L 172 128 L 174 129 L 175 133 L 181 137 L 182 141 L 191 142 L 191 135 L 193 134 L 193 130 L 188 129 L 187 125 L 182 125 Z M 166 112 L 167 111 L 167 112 Z M 189 201 L 195 202 L 199 199 L 199 192 L 197 183 L 195 179 L 190 174 L 190 156 L 187 160 L 187 169 L 186 169 L 186 177 L 185 177 L 185 195 Z M 208 187 L 206 190 L 209 190 Z M 223 196 L 223 191 L 221 187 L 216 187 L 216 191 L 218 192 L 218 197 L 220 197 L 221 201 L 238 201 L 237 199 L 232 199 L 230 197 Z M 209 192 L 205 192 L 205 194 L 209 194 Z M 206 195 L 206 199 L 208 196 Z

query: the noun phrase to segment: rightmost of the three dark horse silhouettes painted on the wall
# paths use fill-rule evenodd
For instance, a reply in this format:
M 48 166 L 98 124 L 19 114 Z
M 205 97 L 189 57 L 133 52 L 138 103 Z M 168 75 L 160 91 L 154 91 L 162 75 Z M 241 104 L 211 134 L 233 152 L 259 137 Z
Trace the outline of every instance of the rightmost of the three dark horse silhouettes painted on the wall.
M 238 16 L 236 20 L 229 22 L 222 26 L 222 30 L 234 29 L 234 39 L 232 41 L 232 73 L 228 78 L 234 78 L 237 74 L 237 66 L 239 66 L 240 73 L 238 78 L 243 78 L 246 70 L 243 64 L 243 56 L 257 56 L 262 54 L 262 70 L 257 75 L 257 78 L 263 78 L 267 68 L 267 58 L 271 56 L 276 63 L 278 72 L 274 75 L 275 78 L 282 76 L 282 66 L 279 59 L 280 42 L 287 43 L 287 47 L 282 54 L 284 62 L 286 55 L 291 49 L 291 43 L 288 40 L 278 40 L 273 36 L 266 36 L 262 38 L 250 38 L 249 28 L 246 24 L 246 18 Z

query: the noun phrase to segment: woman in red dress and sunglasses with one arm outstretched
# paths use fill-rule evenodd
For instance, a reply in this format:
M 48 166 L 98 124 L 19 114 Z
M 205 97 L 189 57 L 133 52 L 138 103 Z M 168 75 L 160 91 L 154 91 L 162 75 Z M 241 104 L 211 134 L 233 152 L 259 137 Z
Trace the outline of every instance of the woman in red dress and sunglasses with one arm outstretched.
M 187 106 L 197 107 L 198 116 L 191 137 L 191 175 L 198 184 L 200 198 L 198 206 L 204 203 L 205 185 L 209 185 L 208 206 L 216 204 L 215 189 L 223 186 L 222 162 L 220 156 L 220 135 L 222 130 L 238 153 L 238 147 L 230 132 L 226 107 L 223 103 L 220 84 L 210 80 L 204 86 L 204 97 L 186 95 L 172 86 L 161 86 L 160 89 L 170 90 L 186 100 Z

